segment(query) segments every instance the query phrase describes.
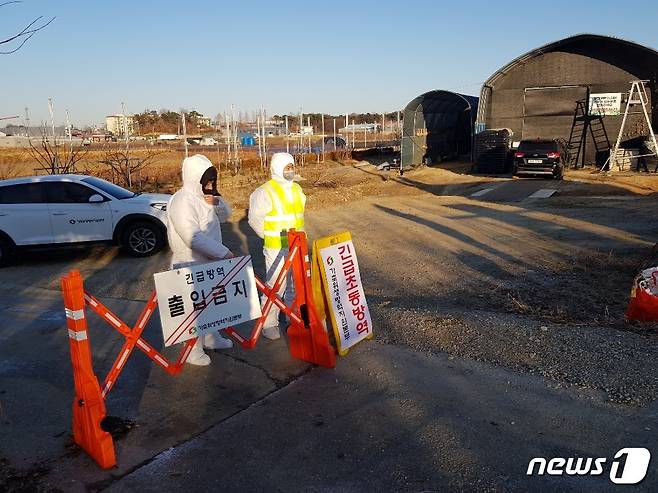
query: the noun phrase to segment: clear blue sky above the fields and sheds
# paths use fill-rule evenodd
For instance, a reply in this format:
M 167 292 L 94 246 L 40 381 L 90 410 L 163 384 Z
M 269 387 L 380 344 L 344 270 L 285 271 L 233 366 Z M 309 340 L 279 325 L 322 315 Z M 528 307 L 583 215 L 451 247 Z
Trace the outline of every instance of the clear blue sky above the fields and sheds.
M 0 0 L 2 3 L 3 0 Z M 536 6 L 533 6 L 536 5 Z M 269 114 L 382 112 L 430 89 L 477 95 L 492 72 L 591 32 L 658 48 L 652 1 L 24 0 L 0 8 L 0 38 L 57 16 L 0 55 L 0 116 L 78 125 L 146 108 L 215 116 L 231 103 Z M 636 15 L 643 12 L 643 15 Z

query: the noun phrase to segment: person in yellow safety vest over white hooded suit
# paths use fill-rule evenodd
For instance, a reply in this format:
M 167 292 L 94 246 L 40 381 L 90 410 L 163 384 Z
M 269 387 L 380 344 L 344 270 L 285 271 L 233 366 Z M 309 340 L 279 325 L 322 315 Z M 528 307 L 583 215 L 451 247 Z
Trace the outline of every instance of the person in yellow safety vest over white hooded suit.
M 265 282 L 273 287 L 288 255 L 289 229 L 304 230 L 306 195 L 293 182 L 295 159 L 287 152 L 277 152 L 270 160 L 272 179 L 258 187 L 249 197 L 249 226 L 263 238 Z M 290 305 L 295 297 L 292 275 L 284 280 L 279 295 Z M 263 327 L 263 336 L 276 340 L 279 330 L 279 309 L 272 306 Z

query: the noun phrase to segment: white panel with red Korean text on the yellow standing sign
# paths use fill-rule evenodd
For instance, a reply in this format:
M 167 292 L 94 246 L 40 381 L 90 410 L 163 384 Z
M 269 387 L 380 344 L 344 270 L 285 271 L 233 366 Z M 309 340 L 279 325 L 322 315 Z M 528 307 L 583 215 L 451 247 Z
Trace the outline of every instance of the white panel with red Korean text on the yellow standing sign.
M 327 299 L 339 338 L 339 352 L 372 337 L 372 320 L 351 240 L 320 247 Z

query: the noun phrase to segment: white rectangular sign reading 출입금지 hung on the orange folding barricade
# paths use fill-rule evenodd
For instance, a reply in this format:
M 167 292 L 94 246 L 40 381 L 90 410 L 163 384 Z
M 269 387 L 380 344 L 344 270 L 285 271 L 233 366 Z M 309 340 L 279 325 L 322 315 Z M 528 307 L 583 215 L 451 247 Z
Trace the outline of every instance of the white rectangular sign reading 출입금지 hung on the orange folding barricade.
M 165 346 L 261 316 L 250 256 L 160 272 L 153 278 Z

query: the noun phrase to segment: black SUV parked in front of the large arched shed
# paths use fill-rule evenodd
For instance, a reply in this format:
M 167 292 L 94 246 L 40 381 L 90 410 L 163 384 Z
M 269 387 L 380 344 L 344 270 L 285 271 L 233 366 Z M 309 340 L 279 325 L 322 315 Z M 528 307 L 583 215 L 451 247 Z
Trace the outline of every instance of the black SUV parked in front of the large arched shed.
M 564 146 L 557 140 L 522 140 L 514 153 L 514 174 L 561 180 L 565 160 Z

